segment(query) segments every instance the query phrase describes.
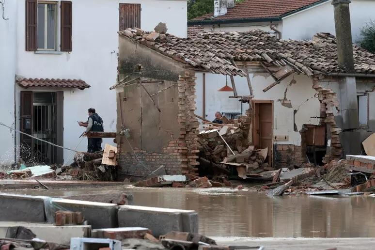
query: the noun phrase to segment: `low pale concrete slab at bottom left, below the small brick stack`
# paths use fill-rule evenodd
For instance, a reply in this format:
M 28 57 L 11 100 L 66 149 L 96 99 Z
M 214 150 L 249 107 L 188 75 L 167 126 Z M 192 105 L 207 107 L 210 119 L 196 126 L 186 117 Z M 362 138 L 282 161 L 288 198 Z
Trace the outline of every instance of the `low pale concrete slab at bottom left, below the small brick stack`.
M 47 223 L 0 221 L 0 238 L 5 238 L 10 228 L 19 226 L 31 230 L 39 239 L 65 245 L 69 245 L 72 237 L 90 237 L 91 235 L 89 225 L 55 226 Z

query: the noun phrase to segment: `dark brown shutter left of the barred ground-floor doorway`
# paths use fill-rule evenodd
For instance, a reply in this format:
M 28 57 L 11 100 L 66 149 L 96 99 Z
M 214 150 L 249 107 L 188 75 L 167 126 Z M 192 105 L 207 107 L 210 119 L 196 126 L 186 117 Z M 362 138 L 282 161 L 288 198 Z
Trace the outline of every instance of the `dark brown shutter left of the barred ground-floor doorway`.
M 21 91 L 21 117 L 20 117 L 20 130 L 26 134 L 32 135 L 33 121 L 32 121 L 32 109 L 33 109 L 33 98 L 32 91 Z M 20 134 L 21 142 L 21 158 L 27 160 L 32 158 L 33 155 L 33 140 L 31 137 Z M 31 154 L 28 155 L 28 154 Z

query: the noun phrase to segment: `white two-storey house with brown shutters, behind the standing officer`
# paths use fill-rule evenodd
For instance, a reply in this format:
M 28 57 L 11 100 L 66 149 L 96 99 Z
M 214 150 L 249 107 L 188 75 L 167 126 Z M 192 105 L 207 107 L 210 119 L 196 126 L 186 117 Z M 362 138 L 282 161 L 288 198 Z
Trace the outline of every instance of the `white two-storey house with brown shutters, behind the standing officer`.
M 3 7 L 3 11 L 2 11 Z M 67 148 L 86 151 L 84 131 L 93 107 L 105 131 L 116 131 L 119 29 L 186 37 L 186 0 L 0 0 L 0 122 Z M 26 31 L 26 32 L 25 32 Z M 59 150 L 0 126 L 0 164 L 16 162 L 28 144 L 35 162 L 70 163 Z M 113 143 L 110 139 L 104 140 Z M 103 144 L 104 145 L 104 144 Z M 63 154 L 62 154 L 63 153 Z

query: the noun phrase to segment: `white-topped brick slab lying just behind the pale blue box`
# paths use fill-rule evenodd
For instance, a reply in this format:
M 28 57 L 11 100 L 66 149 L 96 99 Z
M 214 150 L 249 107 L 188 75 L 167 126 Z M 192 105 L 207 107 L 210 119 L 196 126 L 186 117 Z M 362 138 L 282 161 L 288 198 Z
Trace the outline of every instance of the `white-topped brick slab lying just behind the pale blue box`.
M 92 237 L 117 240 L 123 240 L 126 238 L 143 239 L 146 234 L 151 234 L 151 232 L 148 228 L 144 227 L 117 227 L 94 229 L 92 232 Z

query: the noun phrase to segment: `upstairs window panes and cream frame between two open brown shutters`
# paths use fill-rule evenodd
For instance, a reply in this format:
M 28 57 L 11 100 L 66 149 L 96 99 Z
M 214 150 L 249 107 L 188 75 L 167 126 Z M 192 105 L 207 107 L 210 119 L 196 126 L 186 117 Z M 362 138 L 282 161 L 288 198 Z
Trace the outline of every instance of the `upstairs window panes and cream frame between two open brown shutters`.
M 56 6 L 56 2 L 38 1 L 36 25 L 38 50 L 56 50 Z

